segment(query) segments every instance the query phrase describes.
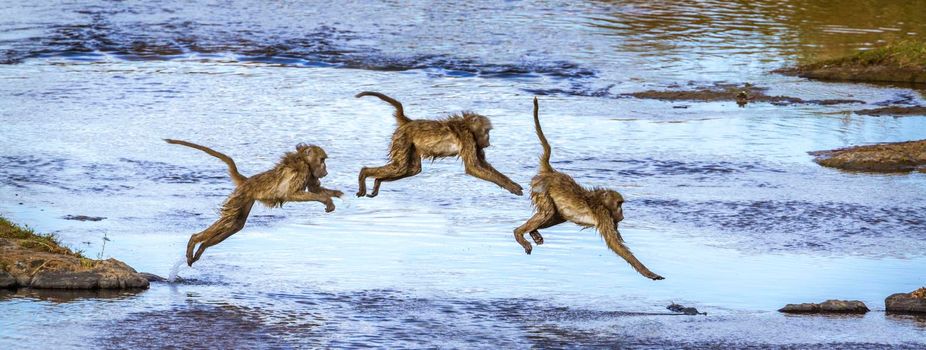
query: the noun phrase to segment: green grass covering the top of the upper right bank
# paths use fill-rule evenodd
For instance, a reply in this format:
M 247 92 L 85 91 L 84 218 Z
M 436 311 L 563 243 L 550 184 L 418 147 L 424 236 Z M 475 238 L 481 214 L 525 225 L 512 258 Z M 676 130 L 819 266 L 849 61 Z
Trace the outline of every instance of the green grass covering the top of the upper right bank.
M 823 66 L 869 67 L 886 66 L 905 69 L 926 69 L 926 42 L 896 41 L 882 47 L 865 50 L 847 57 L 811 63 L 801 68 L 816 69 Z

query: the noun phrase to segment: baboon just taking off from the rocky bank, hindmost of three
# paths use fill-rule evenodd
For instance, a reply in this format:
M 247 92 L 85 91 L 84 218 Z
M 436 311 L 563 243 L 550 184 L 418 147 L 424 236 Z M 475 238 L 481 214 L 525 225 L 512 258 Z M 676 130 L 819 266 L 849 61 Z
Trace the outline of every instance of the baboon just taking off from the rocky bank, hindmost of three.
M 287 152 L 273 167 L 250 178 L 241 175 L 235 161 L 229 156 L 209 147 L 195 143 L 165 139 L 167 143 L 183 145 L 204 151 L 221 159 L 228 165 L 228 173 L 235 183 L 235 190 L 222 205 L 220 217 L 212 226 L 190 236 L 186 247 L 187 265 L 199 260 L 206 248 L 221 243 L 229 236 L 241 231 L 254 201 L 267 207 L 282 207 L 285 202 L 317 201 L 325 204 L 325 212 L 334 210 L 331 197 L 341 197 L 344 193 L 321 187 L 320 178 L 328 175 L 325 159 L 328 155 L 321 147 L 299 144 L 295 152 Z M 196 254 L 193 248 L 199 244 Z

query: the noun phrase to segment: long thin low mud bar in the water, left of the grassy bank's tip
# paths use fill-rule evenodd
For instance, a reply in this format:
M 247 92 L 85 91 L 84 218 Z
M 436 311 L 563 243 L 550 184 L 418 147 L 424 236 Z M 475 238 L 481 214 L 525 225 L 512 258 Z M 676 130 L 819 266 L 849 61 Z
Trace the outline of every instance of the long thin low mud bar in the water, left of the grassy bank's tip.
M 672 86 L 670 88 L 677 88 Z M 696 102 L 736 102 L 744 106 L 751 102 L 766 102 L 773 105 L 784 106 L 794 104 L 836 105 L 850 103 L 865 103 L 855 99 L 823 99 L 805 100 L 793 96 L 768 95 L 767 87 L 752 86 L 750 84 L 715 84 L 707 87 L 696 87 L 691 90 L 647 90 L 622 94 L 624 97 L 654 99 L 663 101 L 696 101 Z

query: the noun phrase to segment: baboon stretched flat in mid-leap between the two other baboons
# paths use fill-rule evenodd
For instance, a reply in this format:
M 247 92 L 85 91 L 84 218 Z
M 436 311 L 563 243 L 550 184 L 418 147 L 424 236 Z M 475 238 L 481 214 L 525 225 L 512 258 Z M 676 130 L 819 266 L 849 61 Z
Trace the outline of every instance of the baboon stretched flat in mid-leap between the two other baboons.
M 389 164 L 360 170 L 360 189 L 357 197 L 376 197 L 383 182 L 404 179 L 421 172 L 422 158 L 463 158 L 466 174 L 490 181 L 516 195 L 522 195 L 521 186 L 495 170 L 485 159 L 484 148 L 489 147 L 492 123 L 485 116 L 463 112 L 440 120 L 409 119 L 399 101 L 378 92 L 364 91 L 355 97 L 376 96 L 395 107 L 399 124 L 392 133 L 389 146 Z M 375 178 L 373 191 L 367 195 L 367 177 Z

